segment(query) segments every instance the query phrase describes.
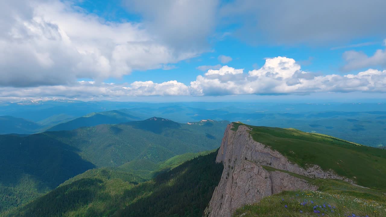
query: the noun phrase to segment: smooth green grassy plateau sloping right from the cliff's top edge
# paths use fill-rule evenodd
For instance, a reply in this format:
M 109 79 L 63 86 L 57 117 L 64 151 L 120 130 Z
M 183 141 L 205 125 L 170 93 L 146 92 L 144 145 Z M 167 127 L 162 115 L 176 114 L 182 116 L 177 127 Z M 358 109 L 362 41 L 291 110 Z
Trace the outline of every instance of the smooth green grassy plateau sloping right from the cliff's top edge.
M 233 124 L 234 131 L 244 125 Z M 317 164 L 358 185 L 386 188 L 386 150 L 295 129 L 247 126 L 252 128 L 250 133 L 255 141 L 279 151 L 303 168 Z

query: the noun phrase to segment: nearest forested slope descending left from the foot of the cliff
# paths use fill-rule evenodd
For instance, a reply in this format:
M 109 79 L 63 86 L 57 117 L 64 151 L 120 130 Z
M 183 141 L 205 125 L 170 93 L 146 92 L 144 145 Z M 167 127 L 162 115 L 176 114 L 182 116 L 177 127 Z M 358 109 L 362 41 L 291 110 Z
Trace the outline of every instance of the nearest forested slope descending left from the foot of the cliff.
M 217 152 L 187 161 L 151 181 L 102 170 L 62 185 L 7 217 L 201 216 L 220 181 Z

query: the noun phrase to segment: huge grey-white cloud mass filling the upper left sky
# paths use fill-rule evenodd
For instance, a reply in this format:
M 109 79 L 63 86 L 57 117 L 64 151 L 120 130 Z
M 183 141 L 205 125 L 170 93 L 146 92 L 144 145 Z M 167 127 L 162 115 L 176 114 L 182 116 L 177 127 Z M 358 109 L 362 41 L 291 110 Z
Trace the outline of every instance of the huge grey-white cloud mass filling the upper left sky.
M 151 34 L 143 23 L 107 22 L 69 2 L 0 3 L 0 86 L 102 81 L 197 56 Z

